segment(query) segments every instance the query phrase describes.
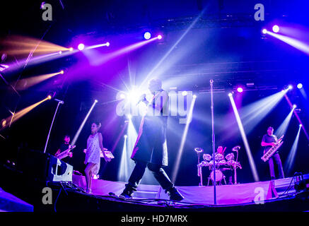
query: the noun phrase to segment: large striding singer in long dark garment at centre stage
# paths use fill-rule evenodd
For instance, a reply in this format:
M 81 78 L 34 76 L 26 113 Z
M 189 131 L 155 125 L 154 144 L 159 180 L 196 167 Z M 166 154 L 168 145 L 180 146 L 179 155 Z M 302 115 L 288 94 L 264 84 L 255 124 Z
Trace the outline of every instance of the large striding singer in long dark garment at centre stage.
M 166 143 L 166 127 L 168 124 L 168 93 L 162 89 L 162 82 L 153 78 L 148 83 L 148 89 L 153 95 L 151 101 L 146 100 L 146 95 L 141 96 L 141 101 L 148 106 L 146 116 L 141 120 L 139 134 L 134 145 L 132 160 L 135 167 L 129 182 L 120 196 L 132 197 L 141 182 L 146 167 L 153 173 L 158 183 L 170 196 L 170 200 L 181 201 L 183 196 L 170 182 L 163 167 L 168 165 L 168 148 Z

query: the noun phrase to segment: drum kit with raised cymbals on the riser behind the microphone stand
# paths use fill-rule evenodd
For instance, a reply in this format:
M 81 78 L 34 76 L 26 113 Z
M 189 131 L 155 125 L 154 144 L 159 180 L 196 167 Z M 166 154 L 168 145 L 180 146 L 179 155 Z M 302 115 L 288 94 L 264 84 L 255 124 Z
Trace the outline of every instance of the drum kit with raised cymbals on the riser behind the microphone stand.
M 198 155 L 202 153 L 203 151 L 202 148 L 195 148 L 194 150 L 196 152 L 197 150 L 199 150 Z M 233 153 L 229 153 L 228 155 L 226 155 L 226 157 L 224 157 L 224 155 L 221 153 L 216 153 L 215 157 L 212 157 L 209 154 L 204 154 L 203 155 L 204 161 L 200 163 L 198 161 L 198 165 L 197 165 L 197 176 L 201 177 L 201 182 L 199 185 L 202 186 L 202 167 L 209 167 L 209 170 L 211 171 L 209 175 L 209 179 L 211 179 L 213 184 L 214 184 L 214 173 L 216 173 L 216 183 L 221 184 L 221 181 L 224 180 L 226 184 L 223 171 L 228 170 L 228 169 L 234 170 L 234 184 L 238 184 L 236 169 L 238 168 L 242 169 L 240 162 L 238 162 L 238 150 L 240 150 L 240 146 L 235 146 L 234 148 L 232 148 L 232 151 L 237 153 L 236 160 L 235 160 L 235 155 Z M 214 165 L 216 169 L 214 169 Z M 208 181 L 208 185 L 209 185 L 209 181 Z

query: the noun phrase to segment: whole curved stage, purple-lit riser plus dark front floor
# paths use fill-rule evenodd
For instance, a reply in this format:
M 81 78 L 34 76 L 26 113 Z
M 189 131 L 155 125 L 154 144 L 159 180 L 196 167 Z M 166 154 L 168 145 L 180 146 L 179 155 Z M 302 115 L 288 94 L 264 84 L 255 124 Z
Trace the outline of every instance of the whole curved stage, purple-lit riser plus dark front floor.
M 296 192 L 291 177 L 272 182 L 216 186 L 176 186 L 185 196 L 180 202 L 169 201 L 159 186 L 140 184 L 133 198 L 120 198 L 124 182 L 93 179 L 93 194 L 86 194 L 85 177 L 73 175 L 72 182 L 44 182 L 18 170 L 1 169 L 1 187 L 12 195 L 33 205 L 37 212 L 303 212 L 309 210 L 307 188 Z M 274 190 L 272 191 L 272 184 Z M 21 190 L 21 186 L 23 189 Z M 52 204 L 42 204 L 42 189 L 52 189 Z M 276 196 L 277 194 L 277 196 Z M 24 211 L 19 209 L 20 211 Z

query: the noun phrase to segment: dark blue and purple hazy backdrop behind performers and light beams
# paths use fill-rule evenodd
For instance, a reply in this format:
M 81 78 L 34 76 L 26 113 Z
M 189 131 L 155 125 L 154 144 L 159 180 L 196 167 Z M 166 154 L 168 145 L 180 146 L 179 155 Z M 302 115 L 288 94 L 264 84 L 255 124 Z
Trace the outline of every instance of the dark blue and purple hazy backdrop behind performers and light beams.
M 210 95 L 201 90 L 209 90 L 209 80 L 214 79 L 214 88 L 221 90 L 214 95 L 216 147 L 227 147 L 231 153 L 235 145 L 240 145 L 239 160 L 243 169 L 238 170 L 238 181 L 253 182 L 245 147 L 238 131 L 228 92 L 236 85 L 255 83 L 255 90 L 241 94 L 240 106 L 248 105 L 268 95 L 279 92 L 288 84 L 294 89 L 288 97 L 301 109 L 299 116 L 308 127 L 308 100 L 305 100 L 297 83 L 308 88 L 308 55 L 288 44 L 261 33 L 262 28 L 271 30 L 274 23 L 301 30 L 308 34 L 307 1 L 47 1 L 52 4 L 52 21 L 42 20 L 41 1 L 1 4 L 1 40 L 10 35 L 22 35 L 40 40 L 45 34 L 47 42 L 63 47 L 77 47 L 83 42 L 88 45 L 110 42 L 108 48 L 93 49 L 89 54 L 77 52 L 42 64 L 29 65 L 25 69 L 4 71 L 1 73 L 8 82 L 18 78 L 65 70 L 63 76 L 51 78 L 19 95 L 0 81 L 1 113 L 0 118 L 9 116 L 8 109 L 23 109 L 44 99 L 49 92 L 56 92 L 55 98 L 64 100 L 57 114 L 47 151 L 55 153 L 67 133 L 71 139 L 86 116 L 95 99 L 98 104 L 93 109 L 74 150 L 74 168 L 83 172 L 83 149 L 90 134 L 91 123 L 103 124 L 103 145 L 112 149 L 122 131 L 125 117 L 117 117 L 115 87 L 126 90 L 131 76 L 139 85 L 145 76 L 155 67 L 162 57 L 180 39 L 194 18 L 202 13 L 192 30 L 173 48 L 162 64 L 153 71 L 153 76 L 163 80 L 163 88 L 177 86 L 178 90 L 193 90 L 197 94 L 193 120 L 188 131 L 187 141 L 182 153 L 180 171 L 176 185 L 195 186 L 197 177 L 197 154 L 195 147 L 211 153 L 211 111 Z M 61 4 L 62 3 L 62 4 Z M 265 6 L 265 20 L 255 21 L 254 6 Z M 62 7 L 64 6 L 64 8 Z M 204 11 L 202 11 L 204 9 Z M 150 30 L 153 34 L 163 34 L 163 40 L 152 42 L 127 54 L 93 66 L 95 59 L 129 44 L 143 40 L 143 34 Z M 299 37 L 298 34 L 292 34 Z M 308 41 L 308 38 L 307 38 Z M 1 44 L 0 53 L 5 52 Z M 10 52 L 4 63 L 21 61 L 28 57 L 14 56 Z M 22 64 L 22 63 L 21 63 Z M 262 89 L 262 87 L 266 87 Z M 235 93 L 235 100 L 238 98 Z M 49 126 L 52 122 L 57 102 L 50 100 L 36 107 L 10 128 L 0 131 L 2 160 L 16 160 L 18 147 L 28 146 L 35 150 L 44 150 Z M 247 140 L 255 158 L 260 180 L 269 179 L 268 165 L 260 160 L 262 150 L 260 142 L 268 126 L 278 128 L 290 108 L 285 99 L 279 102 L 267 117 L 257 126 L 245 126 Z M 241 117 L 241 114 L 240 114 Z M 139 120 L 134 119 L 136 128 Z M 168 175 L 172 175 L 178 148 L 184 129 L 178 124 L 178 117 L 170 117 L 168 122 Z M 298 131 L 298 121 L 293 116 L 281 148 L 281 160 L 286 158 Z M 232 135 L 231 135 L 232 134 Z M 123 148 L 123 136 L 115 147 L 115 160 L 103 167 L 103 179 L 117 181 L 120 156 Z M 308 173 L 308 140 L 301 131 L 294 172 Z M 155 184 L 151 180 L 145 183 Z M 206 183 L 206 177 L 204 178 Z

